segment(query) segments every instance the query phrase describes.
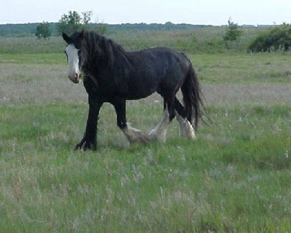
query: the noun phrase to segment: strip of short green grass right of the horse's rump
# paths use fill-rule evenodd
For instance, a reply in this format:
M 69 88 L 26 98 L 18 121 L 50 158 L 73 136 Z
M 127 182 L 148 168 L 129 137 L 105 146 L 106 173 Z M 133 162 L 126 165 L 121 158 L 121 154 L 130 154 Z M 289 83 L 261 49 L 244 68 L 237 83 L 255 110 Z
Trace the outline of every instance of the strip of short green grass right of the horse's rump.
M 207 83 L 290 83 L 291 56 L 269 54 L 199 54 L 190 55 Z

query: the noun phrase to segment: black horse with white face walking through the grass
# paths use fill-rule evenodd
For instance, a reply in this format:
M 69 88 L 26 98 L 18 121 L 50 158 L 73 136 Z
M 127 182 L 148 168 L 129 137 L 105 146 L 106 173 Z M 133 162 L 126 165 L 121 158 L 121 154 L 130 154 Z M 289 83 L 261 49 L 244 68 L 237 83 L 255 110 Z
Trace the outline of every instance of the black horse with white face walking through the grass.
M 80 82 L 88 94 L 86 129 L 75 150 L 97 150 L 97 120 L 104 102 L 114 106 L 117 126 L 130 143 L 165 141 L 167 125 L 175 118 L 182 137 L 195 139 L 204 108 L 199 82 L 190 59 L 183 52 L 166 47 L 126 51 L 112 39 L 93 31 L 77 31 L 68 36 L 65 54 L 68 78 Z M 181 90 L 183 104 L 176 94 Z M 149 133 L 131 127 L 126 120 L 126 100 L 146 98 L 154 92 L 163 98 L 159 124 Z M 194 125 L 192 120 L 194 118 Z

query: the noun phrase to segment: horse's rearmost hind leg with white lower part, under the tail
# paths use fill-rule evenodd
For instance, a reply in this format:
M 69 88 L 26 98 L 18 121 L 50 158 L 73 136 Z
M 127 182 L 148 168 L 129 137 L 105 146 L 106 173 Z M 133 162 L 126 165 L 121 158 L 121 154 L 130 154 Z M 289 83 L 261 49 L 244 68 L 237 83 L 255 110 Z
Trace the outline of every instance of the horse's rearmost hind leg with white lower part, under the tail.
M 185 108 L 179 102 L 177 97 L 175 97 L 174 105 L 175 105 L 176 119 L 178 120 L 179 126 L 180 126 L 179 135 L 181 137 L 187 137 L 189 139 L 195 139 L 196 136 L 195 136 L 195 131 L 194 131 L 193 125 L 187 119 Z

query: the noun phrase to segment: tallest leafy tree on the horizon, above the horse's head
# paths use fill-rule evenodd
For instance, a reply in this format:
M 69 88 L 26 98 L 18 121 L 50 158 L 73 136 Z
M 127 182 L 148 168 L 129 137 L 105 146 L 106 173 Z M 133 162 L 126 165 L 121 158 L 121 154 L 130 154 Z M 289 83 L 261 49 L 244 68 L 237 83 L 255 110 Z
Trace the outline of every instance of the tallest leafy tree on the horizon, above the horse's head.
M 91 20 L 92 11 L 85 11 L 81 13 L 76 11 L 69 11 L 68 15 L 64 14 L 57 25 L 58 33 L 71 34 L 81 28 L 88 29 L 88 23 Z

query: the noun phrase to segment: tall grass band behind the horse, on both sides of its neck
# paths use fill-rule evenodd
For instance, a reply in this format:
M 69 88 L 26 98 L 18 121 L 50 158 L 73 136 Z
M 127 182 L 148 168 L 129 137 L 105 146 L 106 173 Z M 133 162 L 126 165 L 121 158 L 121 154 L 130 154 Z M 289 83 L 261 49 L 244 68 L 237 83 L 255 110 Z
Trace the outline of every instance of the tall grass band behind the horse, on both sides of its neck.
M 242 30 L 242 37 L 238 42 L 229 45 L 231 50 L 247 50 L 250 40 L 262 30 L 260 28 L 247 28 Z M 190 53 L 221 53 L 226 46 L 223 35 L 224 27 L 206 27 L 185 31 L 156 31 L 156 32 L 119 32 L 109 34 L 126 50 L 141 50 L 155 46 L 166 46 L 174 50 Z M 65 42 L 61 37 L 50 37 L 47 40 L 36 37 L 5 38 L 0 37 L 1 53 L 56 53 L 62 52 Z

